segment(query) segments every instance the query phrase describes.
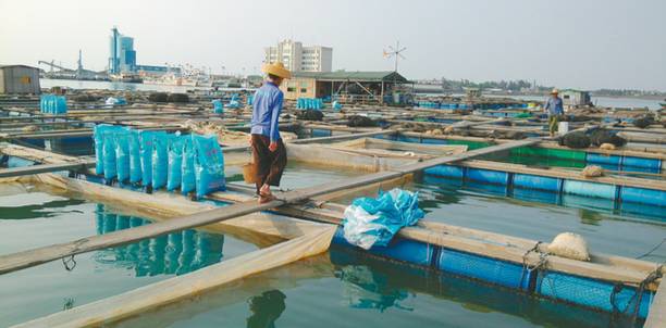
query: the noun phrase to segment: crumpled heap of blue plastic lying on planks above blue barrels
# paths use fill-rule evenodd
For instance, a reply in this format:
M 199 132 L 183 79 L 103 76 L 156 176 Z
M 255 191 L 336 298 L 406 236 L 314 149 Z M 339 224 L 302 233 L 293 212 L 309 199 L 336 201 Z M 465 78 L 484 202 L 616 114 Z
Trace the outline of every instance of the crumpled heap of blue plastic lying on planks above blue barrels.
M 423 215 L 418 192 L 398 188 L 380 191 L 377 199 L 359 198 L 345 209 L 344 236 L 349 243 L 366 250 L 386 247 L 400 228 L 415 225 Z

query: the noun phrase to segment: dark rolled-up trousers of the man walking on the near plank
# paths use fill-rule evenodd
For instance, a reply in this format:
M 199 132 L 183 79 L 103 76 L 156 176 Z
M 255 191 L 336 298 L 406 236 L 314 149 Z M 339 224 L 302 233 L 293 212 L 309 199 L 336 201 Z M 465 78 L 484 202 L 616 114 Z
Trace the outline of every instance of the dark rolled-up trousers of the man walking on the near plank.
M 252 163 L 256 165 L 257 178 L 257 193 L 261 186 L 268 184 L 269 186 L 280 186 L 280 179 L 282 178 L 282 172 L 286 166 L 286 149 L 282 139 L 278 140 L 278 149 L 270 151 L 268 149 L 271 140 L 269 137 L 263 135 L 252 135 Z

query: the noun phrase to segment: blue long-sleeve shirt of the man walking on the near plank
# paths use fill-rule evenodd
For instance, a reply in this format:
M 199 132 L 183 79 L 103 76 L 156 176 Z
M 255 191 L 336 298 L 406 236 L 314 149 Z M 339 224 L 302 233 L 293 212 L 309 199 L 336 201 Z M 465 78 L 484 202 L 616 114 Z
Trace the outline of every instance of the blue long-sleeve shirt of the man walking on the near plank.
M 273 83 L 267 81 L 255 92 L 252 105 L 252 135 L 263 135 L 271 139 L 271 142 L 280 140 L 278 119 L 282 112 L 284 94 Z

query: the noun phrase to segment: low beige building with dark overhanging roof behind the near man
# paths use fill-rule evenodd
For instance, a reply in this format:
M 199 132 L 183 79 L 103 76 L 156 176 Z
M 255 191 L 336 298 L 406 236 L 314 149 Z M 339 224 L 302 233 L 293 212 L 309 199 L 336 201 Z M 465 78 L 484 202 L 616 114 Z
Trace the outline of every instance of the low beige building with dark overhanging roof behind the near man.
M 396 93 L 407 93 L 409 81 L 396 72 L 296 72 L 280 86 L 284 98 L 331 98 L 338 101 L 363 100 L 392 103 Z M 398 97 L 399 98 L 399 97 Z

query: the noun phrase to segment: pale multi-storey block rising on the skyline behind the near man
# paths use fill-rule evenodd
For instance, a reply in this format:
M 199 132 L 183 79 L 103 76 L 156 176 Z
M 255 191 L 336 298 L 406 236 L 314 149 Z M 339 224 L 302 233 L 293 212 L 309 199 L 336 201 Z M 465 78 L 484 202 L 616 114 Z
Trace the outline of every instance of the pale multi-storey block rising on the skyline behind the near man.
M 264 48 L 266 63 L 282 62 L 292 72 L 331 72 L 333 48 L 303 46 L 301 42 L 284 40 L 276 47 Z

